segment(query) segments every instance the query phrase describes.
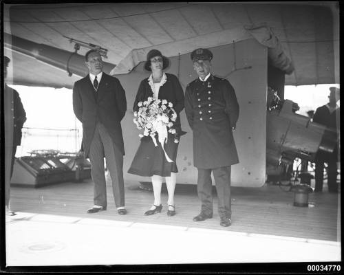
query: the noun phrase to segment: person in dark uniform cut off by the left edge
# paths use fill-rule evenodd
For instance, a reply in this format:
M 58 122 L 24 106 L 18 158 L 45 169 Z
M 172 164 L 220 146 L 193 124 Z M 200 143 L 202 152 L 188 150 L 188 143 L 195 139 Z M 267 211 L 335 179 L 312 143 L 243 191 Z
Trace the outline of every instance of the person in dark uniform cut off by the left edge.
M 7 67 L 10 58 L 3 56 L 3 77 L 7 77 Z M 10 179 L 13 173 L 14 159 L 17 152 L 17 146 L 21 144 L 21 129 L 26 121 L 26 113 L 21 103 L 21 98 L 16 90 L 8 87 L 5 83 L 4 91 L 4 114 L 5 114 L 5 202 L 6 214 L 13 216 L 15 213 L 10 210 Z M 10 164 L 10 165 L 7 165 Z

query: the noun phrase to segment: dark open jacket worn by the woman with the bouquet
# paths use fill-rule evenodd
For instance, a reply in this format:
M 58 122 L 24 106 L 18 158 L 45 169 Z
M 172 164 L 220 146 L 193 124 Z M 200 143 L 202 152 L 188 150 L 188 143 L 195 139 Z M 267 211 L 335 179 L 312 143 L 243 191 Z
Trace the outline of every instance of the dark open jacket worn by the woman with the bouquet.
M 174 126 L 175 131 L 180 135 L 182 128 L 180 126 L 180 112 L 184 109 L 184 92 L 180 82 L 174 74 L 166 74 L 166 83 L 159 89 L 159 99 L 165 99 L 173 104 L 173 109 L 177 113 L 177 119 Z M 133 103 L 133 111 L 138 111 L 138 102 L 147 100 L 149 96 L 153 97 L 153 91 L 149 85 L 149 78 L 144 78 L 138 87 L 138 93 L 136 94 L 135 102 Z M 150 138 L 150 137 L 149 137 Z

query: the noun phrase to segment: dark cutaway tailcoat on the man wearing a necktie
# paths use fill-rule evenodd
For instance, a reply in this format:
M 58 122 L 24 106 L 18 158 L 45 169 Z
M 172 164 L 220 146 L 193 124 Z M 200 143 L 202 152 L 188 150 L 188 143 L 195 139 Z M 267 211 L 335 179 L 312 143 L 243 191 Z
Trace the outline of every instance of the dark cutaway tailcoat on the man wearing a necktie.
M 114 144 L 125 155 L 120 121 L 127 111 L 127 100 L 125 90 L 117 78 L 103 72 L 98 91 L 94 89 L 89 75 L 76 81 L 73 87 L 73 109 L 76 118 L 83 123 L 85 157 L 89 155 L 97 122 L 105 126 Z

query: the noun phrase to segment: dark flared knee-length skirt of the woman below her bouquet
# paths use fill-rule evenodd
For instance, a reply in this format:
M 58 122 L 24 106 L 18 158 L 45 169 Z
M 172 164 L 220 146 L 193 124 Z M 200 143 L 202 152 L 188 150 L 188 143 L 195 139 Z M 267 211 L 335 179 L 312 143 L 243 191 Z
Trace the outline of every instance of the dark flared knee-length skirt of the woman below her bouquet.
M 157 137 L 158 140 L 158 137 Z M 178 144 L 174 142 L 174 136 L 169 133 L 167 143 L 164 143 L 164 149 L 173 162 L 168 162 L 160 142 L 155 147 L 151 137 L 142 137 L 138 151 L 128 173 L 143 177 L 160 175 L 161 177 L 170 177 L 171 172 L 178 173 L 177 158 Z

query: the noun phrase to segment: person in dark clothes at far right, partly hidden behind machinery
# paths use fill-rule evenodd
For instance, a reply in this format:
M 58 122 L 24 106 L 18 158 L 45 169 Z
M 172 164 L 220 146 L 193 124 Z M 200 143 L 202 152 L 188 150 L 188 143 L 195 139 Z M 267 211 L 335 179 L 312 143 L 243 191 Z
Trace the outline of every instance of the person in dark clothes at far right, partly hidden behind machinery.
M 339 88 L 330 87 L 329 102 L 318 109 L 316 109 L 313 122 L 323 124 L 330 129 L 338 132 L 339 123 L 339 106 L 337 101 L 339 99 Z M 314 192 L 322 192 L 323 190 L 323 169 L 324 162 L 327 162 L 327 187 L 329 192 L 338 192 L 337 184 L 337 161 L 338 161 L 338 148 L 334 149 L 332 154 L 325 154 L 319 152 L 315 157 L 315 188 Z

